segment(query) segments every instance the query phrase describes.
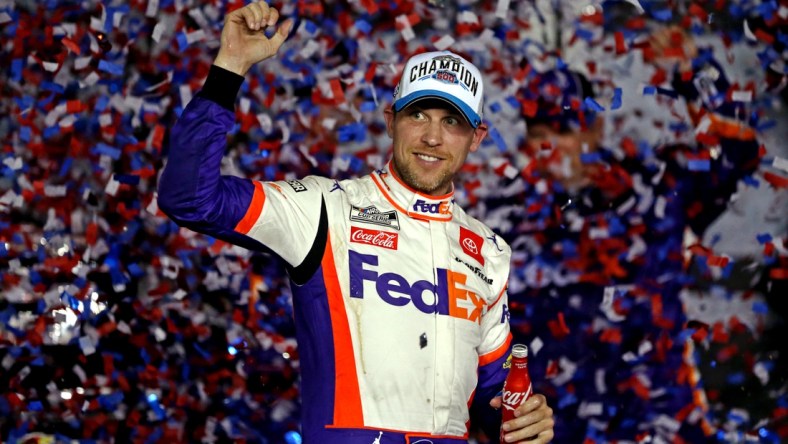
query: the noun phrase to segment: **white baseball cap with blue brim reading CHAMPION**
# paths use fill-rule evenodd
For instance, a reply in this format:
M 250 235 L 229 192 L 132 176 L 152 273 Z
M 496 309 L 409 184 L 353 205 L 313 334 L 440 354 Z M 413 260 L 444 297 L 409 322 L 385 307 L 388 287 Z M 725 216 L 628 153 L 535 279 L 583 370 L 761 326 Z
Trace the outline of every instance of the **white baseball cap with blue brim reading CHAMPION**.
M 394 111 L 421 99 L 454 105 L 476 128 L 482 122 L 484 87 L 479 68 L 449 51 L 416 54 L 405 63 L 394 90 Z

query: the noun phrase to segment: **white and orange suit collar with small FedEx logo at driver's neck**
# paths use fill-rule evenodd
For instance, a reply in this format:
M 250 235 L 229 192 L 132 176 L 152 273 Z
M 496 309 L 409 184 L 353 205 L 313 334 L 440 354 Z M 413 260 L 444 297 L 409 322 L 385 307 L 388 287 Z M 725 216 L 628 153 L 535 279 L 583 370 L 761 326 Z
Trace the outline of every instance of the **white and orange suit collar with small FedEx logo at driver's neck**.
M 372 173 L 375 185 L 401 213 L 414 219 L 446 222 L 454 210 L 454 185 L 448 194 L 430 196 L 409 187 L 391 169 L 391 161 L 382 170 Z

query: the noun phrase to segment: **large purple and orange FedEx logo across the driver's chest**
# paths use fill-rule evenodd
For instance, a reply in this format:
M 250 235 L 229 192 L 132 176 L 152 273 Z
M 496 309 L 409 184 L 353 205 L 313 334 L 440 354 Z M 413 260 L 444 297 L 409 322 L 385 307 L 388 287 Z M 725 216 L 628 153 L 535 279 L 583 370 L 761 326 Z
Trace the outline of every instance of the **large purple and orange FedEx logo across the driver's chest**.
M 437 283 L 426 280 L 408 282 L 394 273 L 378 273 L 378 257 L 348 251 L 350 262 L 350 297 L 363 299 L 364 283 L 371 282 L 383 302 L 397 307 L 413 304 L 422 313 L 451 316 L 481 323 L 484 299 L 462 288 L 467 276 L 438 268 Z

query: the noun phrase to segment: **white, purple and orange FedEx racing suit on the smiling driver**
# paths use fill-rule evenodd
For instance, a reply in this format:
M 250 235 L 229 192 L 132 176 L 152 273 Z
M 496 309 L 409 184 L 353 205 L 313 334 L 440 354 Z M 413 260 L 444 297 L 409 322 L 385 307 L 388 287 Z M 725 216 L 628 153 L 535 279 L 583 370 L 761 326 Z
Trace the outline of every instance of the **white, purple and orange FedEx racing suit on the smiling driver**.
M 420 194 L 388 168 L 221 176 L 240 85 L 228 76 L 212 68 L 173 128 L 159 205 L 289 265 L 304 442 L 466 442 L 472 399 L 489 402 L 506 376 L 509 246 L 452 194 Z

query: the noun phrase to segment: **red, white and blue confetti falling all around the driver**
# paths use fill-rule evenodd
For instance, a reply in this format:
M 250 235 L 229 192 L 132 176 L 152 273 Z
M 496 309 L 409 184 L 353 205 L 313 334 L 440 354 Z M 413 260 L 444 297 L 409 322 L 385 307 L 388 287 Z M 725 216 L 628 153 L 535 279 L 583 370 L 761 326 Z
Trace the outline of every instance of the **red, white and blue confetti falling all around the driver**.
M 45 3 L 0 6 L 7 66 L 0 74 L 7 85 L 0 98 L 0 414 L 10 418 L 2 441 L 92 442 L 123 430 L 150 442 L 300 443 L 286 271 L 270 257 L 178 228 L 156 202 L 168 128 L 201 87 L 224 14 L 244 2 Z M 491 87 L 488 137 L 469 157 L 475 167 L 458 183 L 467 193 L 457 198 L 475 199 L 466 209 L 497 224 L 514 248 L 512 329 L 531 345 L 537 391 L 564 425 L 556 442 L 636 441 L 638 433 L 673 442 L 684 428 L 719 431 L 728 442 L 784 440 L 788 432 L 769 419 L 788 411 L 784 391 L 775 389 L 779 367 L 767 354 L 730 347 L 749 328 L 730 318 L 744 313 L 719 314 L 727 318 L 719 324 L 691 319 L 679 289 L 697 279 L 685 266 L 704 277 L 744 266 L 716 243 L 681 248 L 683 221 L 704 225 L 727 203 L 717 199 L 715 181 L 741 176 L 754 193 L 748 196 L 759 197 L 788 187 L 784 151 L 768 146 L 760 168 L 743 172 L 757 151 L 746 140 L 720 140 L 710 117 L 749 123 L 758 136 L 784 126 L 770 107 L 785 75 L 788 7 L 690 2 L 683 17 L 664 3 L 629 0 L 620 2 L 630 8 L 623 26 L 609 33 L 597 7 L 588 20 L 567 8 L 556 39 L 546 25 L 552 11 L 533 2 L 438 3 L 283 2 L 282 15 L 297 17 L 298 27 L 279 56 L 248 74 L 238 100 L 244 116 L 230 131 L 223 168 L 261 180 L 378 168 L 389 154 L 382 109 L 397 67 L 433 47 L 461 52 Z M 615 9 L 612 3 L 599 8 Z M 654 21 L 680 22 L 696 35 L 715 28 L 704 37 L 725 50 L 700 48 L 695 77 L 680 85 L 668 83 L 670 72 L 631 72 Z M 737 29 L 726 28 L 733 22 Z M 572 52 L 555 40 L 588 50 Z M 757 62 L 731 78 L 738 83 L 713 81 L 724 70 L 712 61 L 741 48 Z M 596 95 L 578 94 L 570 74 L 580 68 Z M 769 88 L 748 83 L 759 69 L 776 76 Z M 684 116 L 685 99 L 705 108 Z M 645 108 L 670 117 L 644 117 Z M 559 164 L 568 175 L 588 168 L 602 191 L 577 192 L 540 169 L 557 150 L 532 156 L 525 136 L 537 121 L 588 128 L 594 114 L 629 141 Z M 646 140 L 649 132 L 661 134 L 659 144 Z M 662 146 L 687 134 L 700 150 Z M 717 148 L 729 142 L 734 149 Z M 719 155 L 700 155 L 703 148 Z M 687 175 L 708 186 L 672 194 Z M 659 237 L 669 241 L 655 243 Z M 748 241 L 762 250 L 756 260 L 765 285 L 784 285 L 785 233 L 758 227 Z M 711 297 L 734 299 L 727 290 Z M 752 318 L 772 314 L 759 300 L 747 307 Z M 708 391 L 710 414 L 694 403 L 700 392 L 688 382 L 695 370 L 683 339 L 707 347 L 702 353 L 718 367 L 720 358 L 746 361 Z M 769 408 L 733 410 L 723 402 L 748 383 Z M 628 399 L 644 400 L 631 404 L 642 414 L 619 406 Z

